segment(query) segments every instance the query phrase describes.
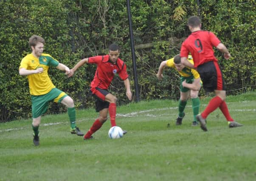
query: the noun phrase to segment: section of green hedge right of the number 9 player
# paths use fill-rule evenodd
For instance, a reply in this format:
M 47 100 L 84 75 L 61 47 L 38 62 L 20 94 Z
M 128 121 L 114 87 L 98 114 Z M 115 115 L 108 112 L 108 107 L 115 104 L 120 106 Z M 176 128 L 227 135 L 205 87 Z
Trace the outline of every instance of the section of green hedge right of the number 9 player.
M 226 80 L 233 93 L 255 89 L 256 85 L 256 3 L 253 0 L 203 1 L 204 28 L 213 31 L 231 52 L 225 60 L 217 54 Z M 206 6 L 206 5 L 210 6 Z M 214 17 L 214 18 L 213 18 Z

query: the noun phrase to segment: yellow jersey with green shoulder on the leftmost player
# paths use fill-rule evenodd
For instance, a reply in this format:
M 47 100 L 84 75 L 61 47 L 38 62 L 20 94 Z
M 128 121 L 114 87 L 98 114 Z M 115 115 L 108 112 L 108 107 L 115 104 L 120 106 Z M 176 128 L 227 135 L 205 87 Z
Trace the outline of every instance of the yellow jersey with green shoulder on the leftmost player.
M 31 95 L 44 95 L 55 88 L 49 75 L 49 67 L 58 66 L 59 62 L 52 58 L 50 55 L 42 53 L 39 58 L 33 56 L 33 54 L 28 54 L 20 62 L 20 68 L 25 68 L 26 70 L 36 70 L 39 67 L 43 68 L 42 73 L 28 75 L 28 84 Z

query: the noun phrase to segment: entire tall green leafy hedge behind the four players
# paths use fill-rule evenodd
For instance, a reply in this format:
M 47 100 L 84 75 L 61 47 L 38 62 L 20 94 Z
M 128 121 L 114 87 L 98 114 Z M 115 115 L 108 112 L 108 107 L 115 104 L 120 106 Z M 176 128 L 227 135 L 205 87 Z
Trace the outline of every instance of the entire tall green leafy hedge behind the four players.
M 118 43 L 134 87 L 126 0 L 5 0 L 0 7 L 1 122 L 31 116 L 28 81 L 18 74 L 18 67 L 31 52 L 28 38 L 33 34 L 45 38 L 45 53 L 70 68 L 81 58 L 105 54 L 109 44 Z M 135 45 L 152 45 L 136 49 L 140 99 L 177 99 L 177 73 L 165 71 L 161 82 L 155 74 L 161 61 L 179 53 L 189 34 L 187 19 L 197 14 L 197 1 L 136 0 L 131 1 L 131 11 Z M 225 60 L 216 51 L 228 89 L 236 90 L 228 93 L 255 89 L 255 2 L 205 0 L 200 12 L 203 29 L 213 31 L 231 52 L 231 59 Z M 77 108 L 87 108 L 94 105 L 88 89 L 95 70 L 95 65 L 85 65 L 69 79 L 54 68 L 49 74 L 56 87 L 75 100 Z M 128 102 L 119 78 L 114 78 L 110 92 L 120 104 Z M 51 104 L 48 112 L 61 111 L 65 107 Z

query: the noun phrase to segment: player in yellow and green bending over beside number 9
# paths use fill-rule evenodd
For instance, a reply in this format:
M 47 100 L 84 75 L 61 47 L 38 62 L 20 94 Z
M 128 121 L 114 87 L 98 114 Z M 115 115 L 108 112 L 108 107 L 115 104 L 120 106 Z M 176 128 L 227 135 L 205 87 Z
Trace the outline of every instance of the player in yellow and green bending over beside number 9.
M 192 64 L 194 63 L 192 56 L 188 56 L 188 60 Z M 182 124 L 182 119 L 185 116 L 184 109 L 186 107 L 189 94 L 192 100 L 192 109 L 194 115 L 192 125 L 198 125 L 196 116 L 199 113 L 200 99 L 198 98 L 198 92 L 201 87 L 201 79 L 199 73 L 196 70 L 185 67 L 183 64 L 181 64 L 180 55 L 176 55 L 174 58 L 161 62 L 157 74 L 158 80 L 162 80 L 163 69 L 165 67 L 174 68 L 180 74 L 179 115 L 176 120 L 176 125 Z

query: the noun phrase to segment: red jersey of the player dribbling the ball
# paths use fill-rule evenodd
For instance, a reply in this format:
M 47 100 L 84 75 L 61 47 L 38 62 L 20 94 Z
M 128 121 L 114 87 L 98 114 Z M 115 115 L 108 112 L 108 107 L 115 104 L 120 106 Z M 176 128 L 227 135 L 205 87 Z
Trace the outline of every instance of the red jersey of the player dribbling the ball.
M 88 63 L 97 64 L 97 70 L 90 85 L 92 88 L 108 89 L 116 73 L 122 80 L 128 78 L 126 64 L 120 58 L 118 58 L 116 64 L 113 64 L 109 55 L 93 56 L 88 58 Z

